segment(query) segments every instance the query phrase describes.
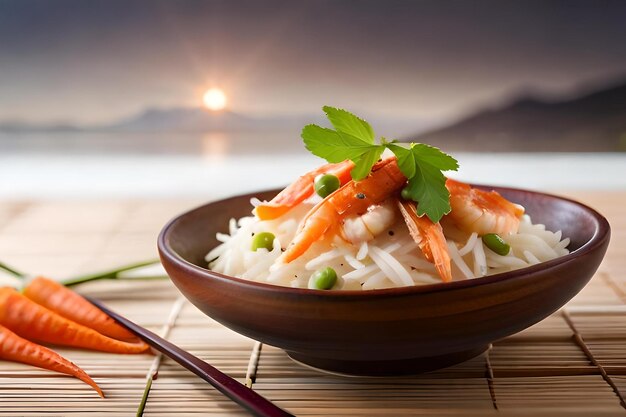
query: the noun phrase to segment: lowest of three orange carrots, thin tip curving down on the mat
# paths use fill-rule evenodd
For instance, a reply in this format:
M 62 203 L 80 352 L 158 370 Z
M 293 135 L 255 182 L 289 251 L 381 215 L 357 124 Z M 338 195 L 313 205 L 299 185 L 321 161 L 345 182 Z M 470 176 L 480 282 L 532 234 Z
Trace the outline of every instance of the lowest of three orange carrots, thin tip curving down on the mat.
M 39 368 L 49 369 L 51 371 L 60 372 L 75 376 L 84 383 L 90 385 L 98 392 L 102 398 L 104 394 L 102 390 L 78 366 L 65 359 L 53 350 L 39 346 L 26 339 L 22 339 L 11 330 L 0 325 L 0 359 L 13 362 L 22 362 L 28 365 L 37 366 Z

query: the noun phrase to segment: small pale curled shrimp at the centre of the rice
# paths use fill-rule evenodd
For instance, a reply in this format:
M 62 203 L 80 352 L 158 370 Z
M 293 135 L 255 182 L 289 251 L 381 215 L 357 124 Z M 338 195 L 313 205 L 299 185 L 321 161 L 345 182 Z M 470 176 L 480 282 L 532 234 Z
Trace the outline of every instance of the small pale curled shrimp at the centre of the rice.
M 393 201 L 371 206 L 365 214 L 352 215 L 344 219 L 341 234 L 348 242 L 358 245 L 368 242 L 387 230 L 396 220 Z

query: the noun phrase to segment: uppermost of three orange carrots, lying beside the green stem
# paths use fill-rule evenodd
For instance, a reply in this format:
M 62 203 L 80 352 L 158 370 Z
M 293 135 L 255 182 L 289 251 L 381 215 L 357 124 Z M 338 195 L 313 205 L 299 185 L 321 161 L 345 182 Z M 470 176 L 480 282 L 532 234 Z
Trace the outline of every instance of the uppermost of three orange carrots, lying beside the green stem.
M 126 341 L 138 340 L 135 335 L 117 324 L 102 310 L 56 281 L 37 277 L 28 284 L 23 294 L 48 310 L 92 328 L 105 336 Z

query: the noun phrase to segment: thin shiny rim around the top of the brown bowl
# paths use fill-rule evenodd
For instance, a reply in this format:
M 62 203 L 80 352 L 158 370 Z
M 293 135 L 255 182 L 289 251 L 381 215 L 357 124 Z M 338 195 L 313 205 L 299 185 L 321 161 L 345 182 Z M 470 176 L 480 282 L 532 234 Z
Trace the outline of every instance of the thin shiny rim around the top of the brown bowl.
M 515 271 L 503 272 L 494 275 L 487 275 L 479 278 L 472 279 L 464 279 L 460 281 L 452 281 L 452 282 L 440 282 L 436 284 L 425 284 L 425 285 L 413 285 L 406 287 L 393 287 L 393 288 L 383 288 L 383 289 L 374 289 L 374 290 L 338 290 L 338 291 L 328 291 L 328 290 L 316 290 L 309 288 L 292 288 L 286 287 L 282 285 L 274 285 L 269 283 L 250 281 L 243 278 L 233 277 L 230 275 L 225 275 L 219 272 L 212 271 L 207 268 L 203 268 L 201 266 L 195 265 L 182 256 L 180 256 L 170 245 L 169 243 L 169 235 L 171 230 L 176 225 L 177 222 L 181 221 L 181 219 L 190 215 L 193 212 L 198 210 L 202 210 L 207 206 L 224 203 L 230 200 L 238 200 L 238 199 L 250 199 L 259 194 L 263 193 L 271 193 L 271 192 L 279 192 L 281 189 L 269 189 L 269 190 L 261 190 L 261 191 L 253 191 L 246 194 L 238 194 L 231 197 L 222 198 L 219 200 L 211 201 L 209 203 L 197 206 L 190 210 L 187 210 L 171 220 L 169 220 L 161 232 L 159 233 L 157 240 L 157 247 L 159 250 L 159 255 L 161 257 L 161 263 L 165 263 L 164 260 L 167 260 L 170 263 L 175 264 L 178 268 L 184 270 L 187 273 L 191 273 L 194 276 L 202 279 L 211 279 L 221 281 L 223 283 L 231 283 L 240 287 L 247 287 L 249 289 L 256 289 L 260 291 L 267 291 L 269 293 L 275 293 L 276 295 L 293 295 L 293 296 L 304 296 L 304 297 L 332 297 L 340 298 L 340 299 L 368 299 L 370 297 L 379 298 L 381 296 L 408 296 L 413 294 L 428 294 L 435 293 L 441 291 L 450 291 L 455 289 L 464 289 L 470 287 L 478 287 L 482 285 L 489 285 L 493 283 L 503 282 L 514 280 L 518 278 L 523 278 L 528 275 L 532 275 L 536 272 L 546 272 L 555 270 L 556 268 L 562 266 L 563 264 L 568 264 L 573 262 L 575 259 L 585 256 L 588 253 L 591 253 L 601 247 L 605 242 L 610 238 L 611 227 L 607 219 L 598 213 L 593 208 L 587 206 L 586 204 L 580 203 L 576 200 L 561 197 L 554 194 L 542 192 L 542 191 L 533 191 L 522 188 L 514 188 L 514 187 L 503 187 L 503 186 L 495 186 L 495 185 L 486 185 L 486 184 L 470 184 L 472 187 L 496 190 L 498 192 L 521 192 L 521 193 L 529 193 L 533 196 L 543 196 L 551 199 L 556 199 L 560 201 L 564 201 L 567 203 L 574 204 L 584 211 L 589 213 L 591 217 L 595 221 L 595 230 L 592 237 L 585 242 L 578 249 L 568 253 L 567 255 L 552 259 L 550 261 L 541 262 L 539 264 L 531 265 L 522 269 L 517 269 Z

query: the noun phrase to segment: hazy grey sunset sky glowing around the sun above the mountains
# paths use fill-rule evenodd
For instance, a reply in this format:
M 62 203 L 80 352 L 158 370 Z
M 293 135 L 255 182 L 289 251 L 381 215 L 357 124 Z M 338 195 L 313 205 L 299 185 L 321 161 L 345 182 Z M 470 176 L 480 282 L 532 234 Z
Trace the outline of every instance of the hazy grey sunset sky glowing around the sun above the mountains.
M 626 78 L 624 1 L 0 2 L 0 121 L 323 104 L 441 119 Z

